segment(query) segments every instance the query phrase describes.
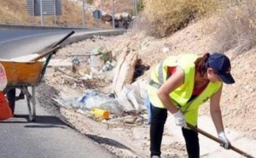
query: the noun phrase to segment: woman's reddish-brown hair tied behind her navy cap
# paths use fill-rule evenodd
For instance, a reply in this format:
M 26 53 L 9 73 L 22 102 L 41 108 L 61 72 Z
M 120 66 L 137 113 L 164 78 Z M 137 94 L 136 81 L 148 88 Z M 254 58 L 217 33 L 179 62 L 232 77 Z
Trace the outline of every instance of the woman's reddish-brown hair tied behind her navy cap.
M 209 59 L 210 54 L 204 54 L 201 58 L 195 60 L 195 68 L 196 71 L 200 73 L 201 76 L 204 76 L 207 72 L 207 60 Z

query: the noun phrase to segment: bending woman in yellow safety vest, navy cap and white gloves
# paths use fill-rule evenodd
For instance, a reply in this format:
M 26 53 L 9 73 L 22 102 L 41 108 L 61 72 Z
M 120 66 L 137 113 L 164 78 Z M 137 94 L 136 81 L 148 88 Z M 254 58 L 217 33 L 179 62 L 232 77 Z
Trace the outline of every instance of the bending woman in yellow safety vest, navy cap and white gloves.
M 230 70 L 230 59 L 220 53 L 207 53 L 202 57 L 179 54 L 154 67 L 147 87 L 151 109 L 151 157 L 160 157 L 167 111 L 174 116 L 176 125 L 182 127 L 189 158 L 200 157 L 198 134 L 187 128 L 187 123 L 197 126 L 199 106 L 207 99 L 210 99 L 212 121 L 223 142 L 221 145 L 229 149 L 219 102 L 222 83 L 235 82 Z

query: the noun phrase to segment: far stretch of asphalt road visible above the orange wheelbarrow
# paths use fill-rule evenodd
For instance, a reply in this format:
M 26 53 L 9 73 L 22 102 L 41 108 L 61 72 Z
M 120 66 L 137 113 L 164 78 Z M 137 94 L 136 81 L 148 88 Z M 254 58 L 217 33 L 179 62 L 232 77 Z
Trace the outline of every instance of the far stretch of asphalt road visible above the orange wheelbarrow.
M 0 28 L 0 58 L 9 59 L 37 53 L 58 42 L 70 31 L 72 30 L 8 30 Z

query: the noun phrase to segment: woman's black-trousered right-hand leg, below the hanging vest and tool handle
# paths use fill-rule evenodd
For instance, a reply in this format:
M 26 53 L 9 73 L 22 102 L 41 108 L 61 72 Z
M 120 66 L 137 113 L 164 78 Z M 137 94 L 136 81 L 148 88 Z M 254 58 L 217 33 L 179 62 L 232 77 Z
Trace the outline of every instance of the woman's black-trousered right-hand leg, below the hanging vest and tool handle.
M 193 130 L 182 128 L 183 137 L 185 138 L 186 148 L 189 158 L 199 158 L 200 156 L 200 146 L 198 133 Z

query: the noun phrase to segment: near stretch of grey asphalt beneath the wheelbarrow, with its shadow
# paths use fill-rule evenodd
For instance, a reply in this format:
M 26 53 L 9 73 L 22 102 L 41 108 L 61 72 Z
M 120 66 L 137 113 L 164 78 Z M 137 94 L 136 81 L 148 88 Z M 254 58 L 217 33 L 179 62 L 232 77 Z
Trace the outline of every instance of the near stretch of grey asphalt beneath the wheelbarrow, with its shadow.
M 28 121 L 26 102 L 16 102 L 16 116 L 0 122 L 1 158 L 110 158 L 108 150 L 65 125 L 37 104 Z

